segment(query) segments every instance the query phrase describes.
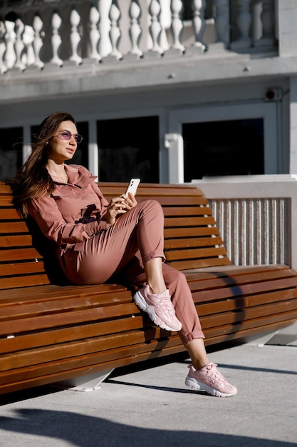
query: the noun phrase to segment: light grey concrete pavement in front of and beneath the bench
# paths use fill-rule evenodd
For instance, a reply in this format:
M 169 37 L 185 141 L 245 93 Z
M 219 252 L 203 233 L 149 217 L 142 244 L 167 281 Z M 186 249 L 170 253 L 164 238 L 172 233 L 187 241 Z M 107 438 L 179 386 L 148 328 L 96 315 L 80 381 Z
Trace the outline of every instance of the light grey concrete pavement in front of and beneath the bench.
M 178 356 L 114 371 L 95 391 L 41 387 L 0 396 L 0 446 L 296 447 L 296 329 L 285 330 L 281 346 L 255 341 L 209 353 L 239 388 L 231 398 L 187 388 L 189 359 Z

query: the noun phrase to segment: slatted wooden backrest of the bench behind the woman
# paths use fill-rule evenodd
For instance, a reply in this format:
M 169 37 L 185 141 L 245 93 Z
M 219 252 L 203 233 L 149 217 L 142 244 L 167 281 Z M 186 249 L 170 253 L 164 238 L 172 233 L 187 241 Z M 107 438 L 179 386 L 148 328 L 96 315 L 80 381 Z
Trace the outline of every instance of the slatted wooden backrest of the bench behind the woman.
M 100 183 L 107 199 L 126 184 Z M 0 289 L 47 284 L 43 257 L 34 248 L 24 219 L 11 204 L 11 189 L 0 184 Z M 179 270 L 229 265 L 207 199 L 195 186 L 141 184 L 137 200 L 156 199 L 165 214 L 167 262 Z

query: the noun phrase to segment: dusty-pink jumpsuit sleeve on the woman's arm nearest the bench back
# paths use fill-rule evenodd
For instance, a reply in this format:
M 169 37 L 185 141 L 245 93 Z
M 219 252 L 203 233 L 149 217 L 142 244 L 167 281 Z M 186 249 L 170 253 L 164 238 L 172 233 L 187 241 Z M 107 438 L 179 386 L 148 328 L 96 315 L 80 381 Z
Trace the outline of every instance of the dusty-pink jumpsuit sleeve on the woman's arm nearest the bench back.
M 100 190 L 98 189 L 99 194 Z M 88 241 L 100 230 L 107 228 L 104 216 L 100 214 L 100 219 L 83 223 L 68 223 L 58 209 L 55 199 L 45 193 L 38 199 L 33 199 L 28 205 L 29 214 L 36 220 L 44 236 L 56 242 L 58 246 L 66 243 L 78 243 Z M 103 214 L 105 211 L 103 211 Z M 103 218 L 103 219 L 102 219 Z

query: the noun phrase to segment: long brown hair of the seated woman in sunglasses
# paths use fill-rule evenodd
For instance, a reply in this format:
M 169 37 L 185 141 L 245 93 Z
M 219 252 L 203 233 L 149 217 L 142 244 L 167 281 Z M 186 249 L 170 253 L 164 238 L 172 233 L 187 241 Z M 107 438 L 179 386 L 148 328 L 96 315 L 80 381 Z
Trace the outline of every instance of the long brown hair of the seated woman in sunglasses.
M 76 126 L 73 116 L 64 111 L 55 112 L 42 121 L 32 144 L 31 154 L 21 166 L 16 177 L 10 182 L 14 195 L 14 206 L 25 218 L 28 216 L 28 201 L 37 199 L 45 192 L 51 194 L 56 187 L 48 174 L 46 163 L 51 137 L 56 134 L 63 121 L 72 121 Z

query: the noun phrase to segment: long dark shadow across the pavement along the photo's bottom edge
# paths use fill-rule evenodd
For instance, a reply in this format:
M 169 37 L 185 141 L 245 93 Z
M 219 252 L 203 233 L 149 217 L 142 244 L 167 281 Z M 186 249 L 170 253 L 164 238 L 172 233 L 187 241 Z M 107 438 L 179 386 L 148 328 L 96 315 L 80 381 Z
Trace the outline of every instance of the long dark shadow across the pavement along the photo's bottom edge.
M 66 441 L 77 447 L 151 447 L 182 446 L 245 446 L 249 447 L 296 447 L 295 443 L 271 441 L 248 436 L 233 436 L 222 433 L 201 431 L 174 431 L 154 428 L 140 428 L 115 423 L 105 418 L 85 416 L 70 411 L 41 409 L 19 409 L 13 417 L 0 417 L 1 431 L 39 436 L 53 439 L 53 442 Z M 23 438 L 26 445 L 26 438 Z M 35 440 L 36 441 L 36 440 Z M 57 444 L 58 445 L 58 444 Z

